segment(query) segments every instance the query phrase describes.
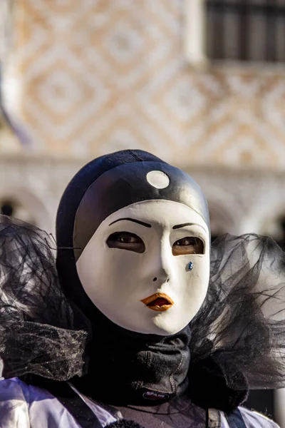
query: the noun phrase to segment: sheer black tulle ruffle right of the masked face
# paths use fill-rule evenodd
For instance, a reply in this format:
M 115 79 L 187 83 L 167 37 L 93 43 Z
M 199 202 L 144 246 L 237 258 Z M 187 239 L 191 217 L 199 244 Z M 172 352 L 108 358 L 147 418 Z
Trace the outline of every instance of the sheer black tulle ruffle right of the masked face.
M 191 359 L 232 389 L 285 386 L 285 255 L 274 240 L 247 234 L 214 241 Z

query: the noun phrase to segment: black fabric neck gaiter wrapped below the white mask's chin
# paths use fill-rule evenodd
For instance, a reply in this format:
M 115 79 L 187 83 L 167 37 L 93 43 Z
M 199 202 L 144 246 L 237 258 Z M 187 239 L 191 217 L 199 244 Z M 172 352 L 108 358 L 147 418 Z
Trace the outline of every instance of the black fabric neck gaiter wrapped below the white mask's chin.
M 142 335 L 118 327 L 96 309 L 92 324 L 88 374 L 72 379 L 83 394 L 109 404 L 145 406 L 185 392 L 190 327 L 169 337 Z

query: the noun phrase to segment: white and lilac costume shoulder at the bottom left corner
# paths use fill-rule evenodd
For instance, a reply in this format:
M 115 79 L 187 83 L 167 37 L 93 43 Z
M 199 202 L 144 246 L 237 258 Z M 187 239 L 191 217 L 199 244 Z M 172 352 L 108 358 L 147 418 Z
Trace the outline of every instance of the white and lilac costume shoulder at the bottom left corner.
M 19 378 L 0 381 L 0 428 L 80 428 L 63 405 L 45 389 Z

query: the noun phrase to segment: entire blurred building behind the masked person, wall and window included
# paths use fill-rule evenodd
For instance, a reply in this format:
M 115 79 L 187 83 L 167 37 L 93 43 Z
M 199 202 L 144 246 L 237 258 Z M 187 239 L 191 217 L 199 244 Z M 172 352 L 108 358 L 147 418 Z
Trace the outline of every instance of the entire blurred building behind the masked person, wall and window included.
M 284 245 L 285 0 L 0 0 L 0 10 L 1 213 L 53 233 L 81 165 L 142 148 L 198 181 L 214 237 Z M 281 397 L 252 395 L 285 427 Z

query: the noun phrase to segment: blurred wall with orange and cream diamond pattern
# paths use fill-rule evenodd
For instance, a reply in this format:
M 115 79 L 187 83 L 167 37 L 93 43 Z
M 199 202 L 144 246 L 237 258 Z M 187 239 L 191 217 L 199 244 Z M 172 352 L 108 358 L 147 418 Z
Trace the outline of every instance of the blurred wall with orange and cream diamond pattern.
M 183 10 L 183 0 L 17 0 L 13 61 L 36 150 L 285 168 L 284 71 L 192 70 Z

